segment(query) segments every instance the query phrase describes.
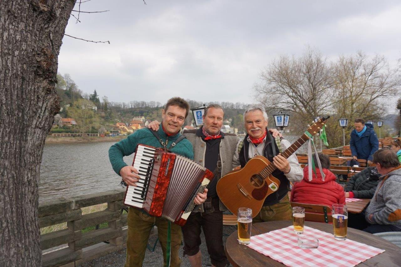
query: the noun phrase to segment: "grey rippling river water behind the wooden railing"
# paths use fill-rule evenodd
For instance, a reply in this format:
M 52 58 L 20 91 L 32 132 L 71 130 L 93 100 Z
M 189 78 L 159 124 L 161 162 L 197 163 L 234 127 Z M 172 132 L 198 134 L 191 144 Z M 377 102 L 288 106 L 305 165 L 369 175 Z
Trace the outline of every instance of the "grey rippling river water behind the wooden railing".
M 288 136 L 290 142 L 296 138 Z M 115 142 L 45 144 L 43 150 L 39 201 L 79 196 L 116 188 L 121 177 L 109 162 L 108 150 Z M 298 153 L 305 153 L 300 152 Z M 132 164 L 134 154 L 124 157 Z

